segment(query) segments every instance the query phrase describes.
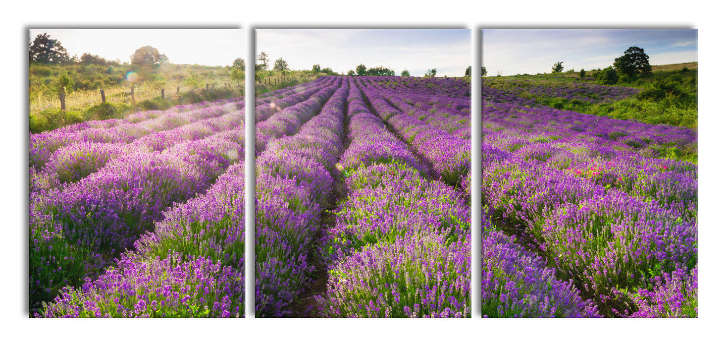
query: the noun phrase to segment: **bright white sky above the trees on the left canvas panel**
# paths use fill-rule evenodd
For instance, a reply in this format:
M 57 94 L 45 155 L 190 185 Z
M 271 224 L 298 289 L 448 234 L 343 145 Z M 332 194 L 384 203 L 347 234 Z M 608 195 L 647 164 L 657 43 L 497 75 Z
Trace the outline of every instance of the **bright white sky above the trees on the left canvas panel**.
M 30 29 L 30 39 L 47 33 L 73 57 L 84 53 L 129 62 L 140 47 L 151 46 L 174 64 L 232 65 L 246 55 L 239 29 Z

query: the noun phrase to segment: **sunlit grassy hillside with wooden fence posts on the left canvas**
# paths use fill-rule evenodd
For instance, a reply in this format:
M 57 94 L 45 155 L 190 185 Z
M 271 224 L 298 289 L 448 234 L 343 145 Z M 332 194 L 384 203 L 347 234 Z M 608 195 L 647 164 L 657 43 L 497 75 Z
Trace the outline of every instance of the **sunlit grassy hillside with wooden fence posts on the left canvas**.
M 63 88 L 66 112 L 62 113 L 58 95 L 64 78 L 68 83 Z M 28 125 L 31 132 L 42 132 L 80 121 L 121 118 L 137 111 L 243 95 L 244 74 L 233 76 L 230 66 L 31 63 Z

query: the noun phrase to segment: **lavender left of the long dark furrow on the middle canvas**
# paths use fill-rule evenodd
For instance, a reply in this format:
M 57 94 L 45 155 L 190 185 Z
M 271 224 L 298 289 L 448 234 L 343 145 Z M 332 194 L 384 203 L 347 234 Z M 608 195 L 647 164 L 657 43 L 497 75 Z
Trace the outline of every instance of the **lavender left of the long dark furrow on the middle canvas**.
M 312 281 L 310 251 L 333 191 L 342 147 L 345 80 L 313 86 L 301 103 L 257 126 L 255 315 L 288 316 Z M 280 127 L 276 125 L 280 124 Z M 299 131 L 300 130 L 300 131 Z

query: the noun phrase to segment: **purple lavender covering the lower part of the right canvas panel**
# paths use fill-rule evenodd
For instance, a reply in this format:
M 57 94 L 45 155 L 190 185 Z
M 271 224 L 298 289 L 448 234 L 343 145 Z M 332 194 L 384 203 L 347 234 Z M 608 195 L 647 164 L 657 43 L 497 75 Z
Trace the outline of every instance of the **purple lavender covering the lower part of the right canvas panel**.
M 566 281 L 577 294 L 571 302 L 585 299 L 587 309 L 570 315 L 696 316 L 696 165 L 651 158 L 639 141 L 690 146 L 696 135 L 549 108 L 483 105 L 483 218 L 516 237 L 513 254 L 537 263 L 548 281 Z M 523 264 L 492 266 L 486 245 L 507 237 L 488 234 L 483 314 L 543 316 L 523 292 L 555 290 L 545 290 L 551 286 L 542 279 L 513 287 L 522 279 L 503 269 Z M 555 314 L 562 315 L 569 314 Z

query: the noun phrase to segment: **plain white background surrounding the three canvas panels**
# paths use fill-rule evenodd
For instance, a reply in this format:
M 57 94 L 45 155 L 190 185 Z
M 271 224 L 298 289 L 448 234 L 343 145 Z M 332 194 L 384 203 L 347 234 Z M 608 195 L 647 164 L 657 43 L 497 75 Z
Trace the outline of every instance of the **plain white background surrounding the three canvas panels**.
M 586 5 L 588 3 L 588 5 Z M 7 223 L 3 340 L 15 346 L 713 345 L 725 274 L 725 6 L 718 1 L 12 1 L 1 15 Z M 712 4 L 712 5 L 707 5 Z M 28 319 L 28 28 L 696 28 L 699 35 L 698 319 Z M 63 42 L 62 42 L 63 43 Z M 473 42 L 473 44 L 478 44 Z M 252 48 L 252 47 L 251 47 Z M 554 47 L 557 49 L 557 47 Z M 92 49 L 89 49 L 92 52 Z M 473 55 L 479 47 L 473 47 Z M 473 56 L 474 58 L 474 56 Z M 473 60 L 473 66 L 478 65 Z M 475 300 L 476 302 L 476 300 Z M 722 335 L 723 334 L 719 334 Z M 724 340 L 723 338 L 721 340 Z M 711 342 L 710 342 L 711 341 Z

